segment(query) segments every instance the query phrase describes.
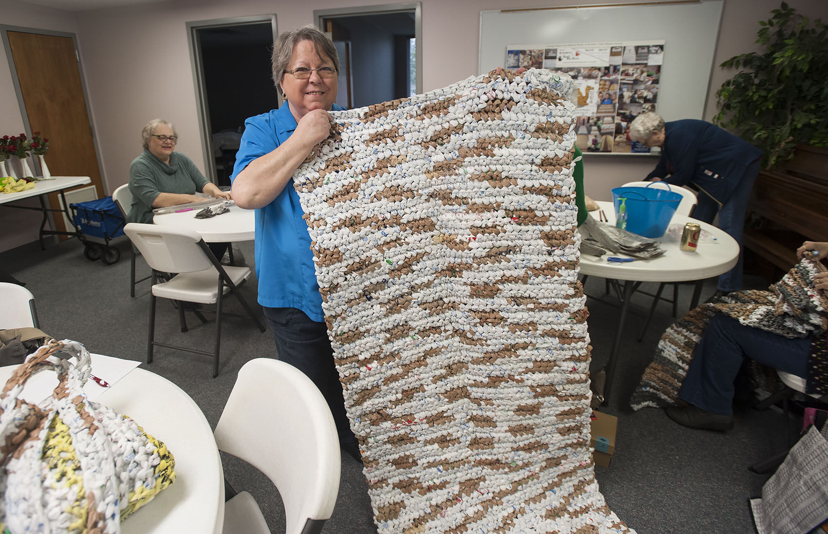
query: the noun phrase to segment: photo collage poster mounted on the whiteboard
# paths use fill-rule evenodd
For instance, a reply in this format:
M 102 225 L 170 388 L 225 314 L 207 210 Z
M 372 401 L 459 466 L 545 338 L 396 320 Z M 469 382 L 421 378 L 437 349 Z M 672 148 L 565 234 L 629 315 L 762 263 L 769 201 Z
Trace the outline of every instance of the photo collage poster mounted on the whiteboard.
M 575 45 L 510 45 L 506 67 L 566 72 L 575 82 L 571 98 L 581 152 L 649 153 L 629 138 L 629 124 L 656 111 L 664 41 Z

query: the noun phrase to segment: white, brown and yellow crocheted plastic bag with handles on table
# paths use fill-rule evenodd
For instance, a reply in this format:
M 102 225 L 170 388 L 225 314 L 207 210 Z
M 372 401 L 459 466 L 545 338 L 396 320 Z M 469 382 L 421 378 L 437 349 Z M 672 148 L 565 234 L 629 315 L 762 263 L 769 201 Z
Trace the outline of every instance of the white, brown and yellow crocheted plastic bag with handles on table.
M 84 396 L 90 368 L 82 344 L 52 340 L 3 388 L 0 532 L 117 534 L 123 519 L 175 480 L 161 441 Z M 51 369 L 60 379 L 51 397 L 38 406 L 19 398 L 27 378 Z

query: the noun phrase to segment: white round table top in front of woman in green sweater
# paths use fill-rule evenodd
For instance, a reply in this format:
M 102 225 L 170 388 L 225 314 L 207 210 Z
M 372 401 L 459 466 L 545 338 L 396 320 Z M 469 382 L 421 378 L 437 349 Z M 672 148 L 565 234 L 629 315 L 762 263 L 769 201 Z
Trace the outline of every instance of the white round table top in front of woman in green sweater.
M 256 211 L 253 209 L 241 209 L 232 205 L 226 214 L 196 219 L 195 214 L 199 211 L 200 209 L 191 209 L 181 213 L 156 214 L 152 222 L 195 230 L 206 243 L 253 241 L 256 237 Z

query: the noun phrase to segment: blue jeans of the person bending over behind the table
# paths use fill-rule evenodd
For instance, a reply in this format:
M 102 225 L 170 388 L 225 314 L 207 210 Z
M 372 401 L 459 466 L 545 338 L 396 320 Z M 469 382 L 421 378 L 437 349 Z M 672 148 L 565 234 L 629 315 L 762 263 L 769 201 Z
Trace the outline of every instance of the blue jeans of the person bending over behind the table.
M 730 195 L 721 210 L 719 210 L 719 204 L 716 204 L 709 196 L 701 192 L 699 193 L 699 204 L 693 209 L 693 219 L 699 219 L 710 224 L 715 219 L 716 211 L 719 211 L 719 228 L 729 233 L 736 240 L 736 243 L 739 243 L 739 262 L 728 272 L 719 276 L 716 289 L 721 291 L 739 291 L 742 289 L 744 214 L 748 210 L 748 200 L 750 191 L 753 190 L 753 182 L 756 181 L 756 176 L 759 174 L 759 163 L 759 160 L 753 161 L 748 166 L 748 169 L 744 171 L 742 180 L 739 180 L 739 185 L 736 186 L 733 194 Z

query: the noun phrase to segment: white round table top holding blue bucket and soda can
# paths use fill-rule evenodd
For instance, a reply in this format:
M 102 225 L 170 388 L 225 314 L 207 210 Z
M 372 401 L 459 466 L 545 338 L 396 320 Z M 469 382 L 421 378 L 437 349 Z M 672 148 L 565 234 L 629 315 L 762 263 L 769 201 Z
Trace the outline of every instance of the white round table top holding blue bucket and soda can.
M 615 224 L 615 209 L 612 202 L 599 201 L 601 209 L 609 219 L 609 224 Z M 599 219 L 598 210 L 591 211 L 590 217 Z M 613 254 L 604 254 L 601 257 L 581 254 L 580 272 L 585 275 L 614 278 L 616 280 L 633 281 L 691 281 L 716 277 L 728 272 L 739 260 L 739 243 L 731 238 L 724 230 L 712 224 L 703 223 L 686 215 L 673 215 L 670 224 L 697 223 L 702 230 L 713 234 L 715 243 L 699 243 L 696 252 L 686 252 L 679 248 L 679 238 L 665 233 L 661 238 L 654 238 L 666 251 L 661 257 L 651 260 L 635 260 L 634 262 L 608 262 L 607 257 Z M 619 254 L 618 257 L 626 257 Z

